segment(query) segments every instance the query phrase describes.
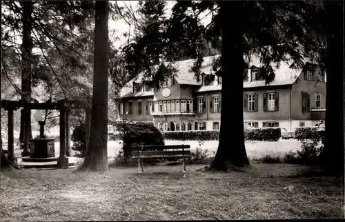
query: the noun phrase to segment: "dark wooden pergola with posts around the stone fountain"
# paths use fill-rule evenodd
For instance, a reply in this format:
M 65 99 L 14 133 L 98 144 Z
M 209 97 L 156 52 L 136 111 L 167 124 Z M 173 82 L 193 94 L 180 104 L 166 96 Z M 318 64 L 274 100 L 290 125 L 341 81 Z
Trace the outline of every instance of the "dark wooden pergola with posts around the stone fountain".
M 57 159 L 58 168 L 68 168 L 67 149 L 70 150 L 70 109 L 85 108 L 81 101 L 68 101 L 62 99 L 57 102 L 27 103 L 26 101 L 1 100 L 1 108 L 8 111 L 8 159 L 14 161 L 14 119 L 13 111 L 23 108 L 22 112 L 28 110 L 59 110 L 60 111 L 60 155 Z M 28 128 L 24 125 L 23 130 L 23 152 L 22 157 L 30 155 Z

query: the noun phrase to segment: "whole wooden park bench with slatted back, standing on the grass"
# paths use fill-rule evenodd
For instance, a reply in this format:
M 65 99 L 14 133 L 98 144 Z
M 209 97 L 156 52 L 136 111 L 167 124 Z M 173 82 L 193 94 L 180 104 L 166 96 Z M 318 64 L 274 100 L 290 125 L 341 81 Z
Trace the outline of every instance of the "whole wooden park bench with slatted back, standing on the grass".
M 130 148 L 132 159 L 138 160 L 139 173 L 144 172 L 143 159 L 182 159 L 186 171 L 185 159 L 190 158 L 190 145 L 137 145 Z

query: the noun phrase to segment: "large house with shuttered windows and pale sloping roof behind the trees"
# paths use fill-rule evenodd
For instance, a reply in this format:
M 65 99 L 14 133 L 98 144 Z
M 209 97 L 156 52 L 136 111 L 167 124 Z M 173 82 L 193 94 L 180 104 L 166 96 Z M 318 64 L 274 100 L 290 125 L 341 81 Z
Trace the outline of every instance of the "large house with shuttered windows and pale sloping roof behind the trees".
M 217 57 L 217 56 L 216 56 Z M 215 57 L 204 58 L 199 81 L 189 70 L 193 60 L 179 61 L 177 74 L 159 89 L 141 83 L 142 74 L 121 90 L 118 119 L 150 121 L 161 130 L 219 130 L 221 77 L 212 70 Z M 275 68 L 275 81 L 263 80 L 264 69 L 253 57 L 244 72 L 244 121 L 254 128 L 280 127 L 292 132 L 324 120 L 326 77 L 316 65 L 290 69 L 288 63 Z

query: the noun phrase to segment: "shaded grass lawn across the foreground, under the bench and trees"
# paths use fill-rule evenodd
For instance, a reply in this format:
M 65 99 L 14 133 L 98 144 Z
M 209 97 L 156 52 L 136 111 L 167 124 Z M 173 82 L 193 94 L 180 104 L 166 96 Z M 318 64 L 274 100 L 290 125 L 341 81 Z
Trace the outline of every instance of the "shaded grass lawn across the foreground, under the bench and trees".
M 2 170 L 1 221 L 339 218 L 339 180 L 297 176 L 306 166 L 253 164 L 206 173 L 204 165 L 145 165 L 105 173 Z

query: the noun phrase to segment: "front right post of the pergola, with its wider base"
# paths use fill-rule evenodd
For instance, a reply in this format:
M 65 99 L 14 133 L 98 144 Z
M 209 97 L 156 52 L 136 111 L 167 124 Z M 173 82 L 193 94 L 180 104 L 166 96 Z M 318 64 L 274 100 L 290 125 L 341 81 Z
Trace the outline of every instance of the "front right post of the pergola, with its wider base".
M 64 103 L 61 102 L 60 105 L 60 156 L 57 159 L 57 167 L 62 169 L 68 168 L 68 158 L 66 156 L 66 125 L 65 125 L 65 115 L 66 115 L 66 108 Z

